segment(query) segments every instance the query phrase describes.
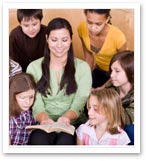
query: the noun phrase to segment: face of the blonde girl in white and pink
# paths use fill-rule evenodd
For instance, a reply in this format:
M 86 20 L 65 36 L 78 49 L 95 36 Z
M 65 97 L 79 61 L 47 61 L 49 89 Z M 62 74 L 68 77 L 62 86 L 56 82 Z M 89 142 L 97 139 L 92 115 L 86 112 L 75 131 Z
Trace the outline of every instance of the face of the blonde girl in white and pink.
M 100 107 L 101 108 L 101 107 Z M 89 123 L 92 126 L 107 124 L 107 117 L 99 108 L 97 97 L 91 95 L 88 101 Z

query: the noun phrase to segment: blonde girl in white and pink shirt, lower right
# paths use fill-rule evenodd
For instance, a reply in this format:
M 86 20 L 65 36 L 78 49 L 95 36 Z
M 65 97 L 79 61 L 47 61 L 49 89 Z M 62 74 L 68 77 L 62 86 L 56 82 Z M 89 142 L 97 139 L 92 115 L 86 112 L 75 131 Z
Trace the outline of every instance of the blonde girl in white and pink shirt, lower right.
M 89 120 L 76 130 L 77 145 L 127 145 L 122 103 L 113 89 L 92 91 L 88 103 Z

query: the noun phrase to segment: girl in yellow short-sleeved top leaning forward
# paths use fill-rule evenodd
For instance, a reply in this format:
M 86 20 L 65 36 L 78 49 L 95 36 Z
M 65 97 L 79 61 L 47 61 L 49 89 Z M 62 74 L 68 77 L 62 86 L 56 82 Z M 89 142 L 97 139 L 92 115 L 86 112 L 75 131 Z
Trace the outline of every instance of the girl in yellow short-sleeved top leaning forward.
M 92 70 L 92 87 L 102 86 L 109 77 L 109 63 L 119 51 L 126 49 L 124 34 L 110 22 L 110 9 L 85 9 L 86 22 L 78 26 L 85 60 Z

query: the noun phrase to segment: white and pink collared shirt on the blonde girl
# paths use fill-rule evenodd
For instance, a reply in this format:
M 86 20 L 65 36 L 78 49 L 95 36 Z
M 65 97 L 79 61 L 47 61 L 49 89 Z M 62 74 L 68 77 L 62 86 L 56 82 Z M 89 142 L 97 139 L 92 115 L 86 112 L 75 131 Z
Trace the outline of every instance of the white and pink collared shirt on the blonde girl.
M 118 128 L 119 129 L 119 128 Z M 76 130 L 77 137 L 83 141 L 84 145 L 127 145 L 130 139 L 123 129 L 120 133 L 110 134 L 106 132 L 100 140 L 97 139 L 94 127 L 89 126 L 89 121 L 82 124 Z

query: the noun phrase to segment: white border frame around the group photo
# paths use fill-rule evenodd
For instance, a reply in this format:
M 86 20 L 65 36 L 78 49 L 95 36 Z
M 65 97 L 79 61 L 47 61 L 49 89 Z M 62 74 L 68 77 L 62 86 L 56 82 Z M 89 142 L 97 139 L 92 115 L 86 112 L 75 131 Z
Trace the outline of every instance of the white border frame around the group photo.
M 32 7 L 33 6 L 33 7 Z M 135 82 L 135 145 L 134 146 L 11 146 L 9 145 L 9 9 L 134 9 L 134 82 Z M 7 2 L 3 4 L 3 153 L 140 153 L 140 4 L 119 2 L 49 3 Z M 5 101 L 8 100 L 8 101 Z M 41 149 L 41 150 L 40 150 Z

